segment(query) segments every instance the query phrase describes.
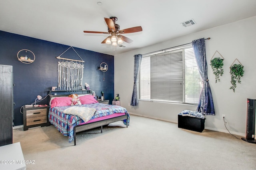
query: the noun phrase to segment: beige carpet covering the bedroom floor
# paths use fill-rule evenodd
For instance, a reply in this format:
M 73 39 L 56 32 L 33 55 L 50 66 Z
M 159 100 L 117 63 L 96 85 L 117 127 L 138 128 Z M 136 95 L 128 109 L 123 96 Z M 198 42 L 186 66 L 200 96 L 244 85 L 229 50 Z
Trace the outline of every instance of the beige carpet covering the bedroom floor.
M 13 130 L 26 170 L 255 170 L 256 144 L 230 134 L 178 128 L 175 123 L 130 115 L 130 126 L 112 123 L 68 143 L 53 126 Z M 115 126 L 117 125 L 117 126 Z M 240 138 L 240 137 L 239 137 Z

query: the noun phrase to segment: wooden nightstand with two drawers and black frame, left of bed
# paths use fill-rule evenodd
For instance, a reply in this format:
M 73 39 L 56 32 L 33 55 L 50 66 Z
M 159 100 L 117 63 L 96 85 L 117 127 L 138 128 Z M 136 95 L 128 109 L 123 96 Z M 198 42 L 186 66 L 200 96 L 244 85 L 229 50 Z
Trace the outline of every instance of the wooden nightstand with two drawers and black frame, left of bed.
M 49 106 L 23 107 L 23 130 L 30 127 L 49 126 Z

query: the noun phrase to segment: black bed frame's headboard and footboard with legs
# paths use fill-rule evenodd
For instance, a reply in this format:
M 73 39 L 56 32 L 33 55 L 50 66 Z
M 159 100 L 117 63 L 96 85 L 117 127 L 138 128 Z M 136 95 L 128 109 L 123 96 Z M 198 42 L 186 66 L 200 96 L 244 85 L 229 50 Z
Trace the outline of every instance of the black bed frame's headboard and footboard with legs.
M 51 97 L 68 96 L 70 94 L 92 94 L 92 90 L 76 90 L 76 91 L 50 90 L 49 91 L 50 98 Z M 126 127 L 128 127 L 128 114 L 75 126 L 74 127 L 74 145 L 76 145 L 76 133 L 86 131 L 89 129 L 93 129 L 96 127 L 100 127 L 100 130 L 102 133 L 102 129 L 103 129 L 102 127 L 104 125 L 108 125 L 110 123 L 114 123 L 114 122 L 122 121 L 122 120 L 126 120 Z

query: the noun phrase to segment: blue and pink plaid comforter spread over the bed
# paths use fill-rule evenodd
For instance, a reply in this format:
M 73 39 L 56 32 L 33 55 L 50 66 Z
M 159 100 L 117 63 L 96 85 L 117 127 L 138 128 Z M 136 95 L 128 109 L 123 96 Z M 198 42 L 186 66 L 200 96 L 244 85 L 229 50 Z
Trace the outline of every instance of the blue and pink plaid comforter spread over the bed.
M 49 110 L 49 121 L 52 123 L 58 131 L 60 131 L 64 136 L 68 136 L 68 142 L 72 142 L 74 140 L 74 127 L 84 121 L 78 117 L 77 115 L 68 115 L 63 113 L 64 110 L 68 109 L 69 107 L 73 106 L 58 106 L 50 108 Z M 91 107 L 95 108 L 96 112 L 92 116 L 92 119 L 97 117 L 102 117 L 106 115 L 111 115 L 113 113 L 126 113 L 128 111 L 121 106 L 116 105 L 107 105 L 102 103 L 94 103 L 94 104 L 85 104 L 85 105 L 76 105 L 76 107 Z M 130 116 L 128 114 L 128 120 L 123 120 L 124 125 L 129 125 Z

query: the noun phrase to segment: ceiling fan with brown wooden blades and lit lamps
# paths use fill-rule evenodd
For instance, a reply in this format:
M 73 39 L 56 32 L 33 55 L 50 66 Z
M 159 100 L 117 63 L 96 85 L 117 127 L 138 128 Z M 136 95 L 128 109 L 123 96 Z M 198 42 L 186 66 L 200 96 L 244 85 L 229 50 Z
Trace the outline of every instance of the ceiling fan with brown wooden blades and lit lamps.
M 111 34 L 106 39 L 104 39 L 101 43 L 111 44 L 116 46 L 118 44 L 122 44 L 123 41 L 126 43 L 132 43 L 132 39 L 125 37 L 124 33 L 135 33 L 142 31 L 142 27 L 131 27 L 120 30 L 120 25 L 116 24 L 118 20 L 117 17 L 104 18 L 106 24 L 108 25 L 108 32 L 100 32 L 100 31 L 84 31 L 84 33 L 103 33 L 103 34 Z

